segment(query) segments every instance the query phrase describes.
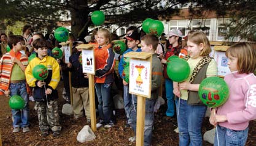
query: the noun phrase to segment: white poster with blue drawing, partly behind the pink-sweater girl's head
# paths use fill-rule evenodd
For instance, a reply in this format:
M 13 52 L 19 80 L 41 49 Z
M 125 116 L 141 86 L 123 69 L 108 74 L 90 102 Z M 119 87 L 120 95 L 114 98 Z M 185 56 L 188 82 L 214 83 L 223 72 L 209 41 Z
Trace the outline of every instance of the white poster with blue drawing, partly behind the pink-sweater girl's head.
M 230 73 L 230 68 L 228 68 L 228 58 L 224 51 L 214 51 L 214 60 L 217 62 L 219 76 L 225 76 Z

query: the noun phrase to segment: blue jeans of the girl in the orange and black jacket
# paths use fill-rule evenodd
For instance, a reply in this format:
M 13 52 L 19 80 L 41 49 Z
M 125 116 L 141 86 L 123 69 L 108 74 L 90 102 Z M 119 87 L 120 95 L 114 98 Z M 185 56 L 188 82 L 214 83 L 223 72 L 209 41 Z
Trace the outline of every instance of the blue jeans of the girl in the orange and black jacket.
M 104 123 L 109 123 L 110 120 L 114 121 L 111 83 L 95 83 L 95 89 L 99 101 L 99 119 Z

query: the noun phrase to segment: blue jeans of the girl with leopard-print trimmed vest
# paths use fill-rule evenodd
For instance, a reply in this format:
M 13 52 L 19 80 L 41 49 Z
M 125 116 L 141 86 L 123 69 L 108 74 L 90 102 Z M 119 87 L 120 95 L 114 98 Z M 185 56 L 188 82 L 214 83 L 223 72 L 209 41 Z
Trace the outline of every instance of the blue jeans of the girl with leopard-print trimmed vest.
M 207 106 L 189 105 L 187 104 L 187 100 L 177 98 L 176 109 L 179 127 L 179 145 L 203 145 L 201 128 Z

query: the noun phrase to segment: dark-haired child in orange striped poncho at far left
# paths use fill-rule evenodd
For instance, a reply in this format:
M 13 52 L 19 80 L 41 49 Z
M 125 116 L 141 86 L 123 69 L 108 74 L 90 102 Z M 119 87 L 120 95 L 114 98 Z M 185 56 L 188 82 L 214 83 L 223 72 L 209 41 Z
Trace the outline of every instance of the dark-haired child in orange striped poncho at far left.
M 0 61 L 0 79 L 2 90 L 5 90 L 6 97 L 20 95 L 25 100 L 25 106 L 21 110 L 12 109 L 12 117 L 14 126 L 13 133 L 23 128 L 23 133 L 29 132 L 29 100 L 26 89 L 25 68 L 28 65 L 26 54 L 21 54 L 21 48 L 25 45 L 23 37 L 12 35 L 9 38 L 11 50 L 4 54 Z M 2 94 L 2 92 L 0 92 Z

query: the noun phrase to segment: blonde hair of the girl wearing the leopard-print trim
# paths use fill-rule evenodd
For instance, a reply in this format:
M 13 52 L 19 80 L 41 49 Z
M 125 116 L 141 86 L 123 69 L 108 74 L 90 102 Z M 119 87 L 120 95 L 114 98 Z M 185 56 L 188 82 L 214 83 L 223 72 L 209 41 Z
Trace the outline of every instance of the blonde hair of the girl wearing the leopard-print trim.
M 195 43 L 196 45 L 203 43 L 204 48 L 201 50 L 200 56 L 209 56 L 212 51 L 210 42 L 204 32 L 192 32 L 188 35 L 188 41 Z

